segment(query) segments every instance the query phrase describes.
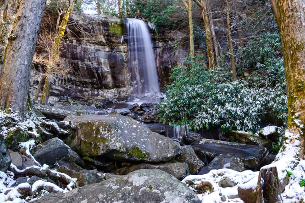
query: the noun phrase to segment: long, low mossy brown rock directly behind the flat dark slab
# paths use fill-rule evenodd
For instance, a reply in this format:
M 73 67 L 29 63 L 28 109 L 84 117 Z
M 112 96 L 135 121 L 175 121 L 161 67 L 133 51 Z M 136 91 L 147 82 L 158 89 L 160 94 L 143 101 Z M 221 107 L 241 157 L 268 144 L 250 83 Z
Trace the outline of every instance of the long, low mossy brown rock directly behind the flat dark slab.
M 228 137 L 233 136 L 237 142 L 241 142 L 242 144 L 264 146 L 267 149 L 271 149 L 272 147 L 271 140 L 261 138 L 255 134 L 232 130 L 227 132 L 226 135 Z

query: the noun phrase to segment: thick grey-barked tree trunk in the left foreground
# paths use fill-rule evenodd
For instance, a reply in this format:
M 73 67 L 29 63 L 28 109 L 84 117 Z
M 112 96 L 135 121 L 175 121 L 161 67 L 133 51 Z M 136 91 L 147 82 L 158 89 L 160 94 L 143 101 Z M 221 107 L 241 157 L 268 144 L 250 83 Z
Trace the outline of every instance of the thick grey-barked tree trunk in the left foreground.
M 27 107 L 30 70 L 45 0 L 20 0 L 5 48 L 0 78 L 0 106 L 22 114 Z

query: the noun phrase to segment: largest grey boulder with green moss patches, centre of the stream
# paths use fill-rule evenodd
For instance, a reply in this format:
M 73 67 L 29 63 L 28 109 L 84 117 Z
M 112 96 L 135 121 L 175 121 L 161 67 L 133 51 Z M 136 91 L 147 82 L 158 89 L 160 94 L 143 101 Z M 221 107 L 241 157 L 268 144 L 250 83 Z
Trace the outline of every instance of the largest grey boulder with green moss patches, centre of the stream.
M 67 117 L 65 121 L 76 126 L 66 143 L 82 156 L 161 162 L 172 160 L 181 152 L 179 143 L 127 116 L 82 115 Z

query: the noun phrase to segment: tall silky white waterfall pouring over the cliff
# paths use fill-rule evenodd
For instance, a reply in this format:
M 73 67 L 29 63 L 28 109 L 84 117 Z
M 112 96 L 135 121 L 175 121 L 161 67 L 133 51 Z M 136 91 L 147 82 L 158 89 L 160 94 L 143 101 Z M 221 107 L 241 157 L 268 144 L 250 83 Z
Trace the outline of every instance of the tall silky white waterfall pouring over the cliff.
M 151 35 L 145 22 L 138 19 L 127 19 L 127 44 L 130 54 L 129 66 L 132 67 L 138 94 L 159 94 L 159 82 L 152 49 Z M 153 95 L 152 95 L 153 96 Z

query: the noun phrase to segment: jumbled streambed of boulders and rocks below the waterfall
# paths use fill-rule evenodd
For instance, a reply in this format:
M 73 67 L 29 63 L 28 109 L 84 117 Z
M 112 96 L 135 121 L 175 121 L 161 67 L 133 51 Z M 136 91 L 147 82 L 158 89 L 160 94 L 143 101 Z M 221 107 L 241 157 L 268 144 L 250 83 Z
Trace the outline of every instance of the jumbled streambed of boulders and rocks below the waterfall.
M 98 109 L 34 104 L 40 118 L 33 114 L 23 121 L 3 113 L 0 200 L 200 202 L 198 195 L 217 187 L 191 184 L 190 175 L 222 168 L 255 170 L 274 159 L 269 152 L 278 140 L 277 127 L 256 135 L 231 131 L 222 140 L 182 127 L 175 141 L 165 136 L 164 128 L 156 128 L 155 105 L 124 105 Z M 224 177 L 217 181 L 221 188 L 237 188 Z

